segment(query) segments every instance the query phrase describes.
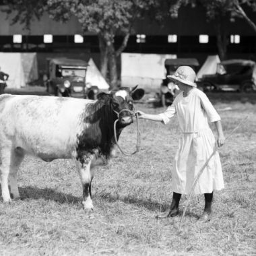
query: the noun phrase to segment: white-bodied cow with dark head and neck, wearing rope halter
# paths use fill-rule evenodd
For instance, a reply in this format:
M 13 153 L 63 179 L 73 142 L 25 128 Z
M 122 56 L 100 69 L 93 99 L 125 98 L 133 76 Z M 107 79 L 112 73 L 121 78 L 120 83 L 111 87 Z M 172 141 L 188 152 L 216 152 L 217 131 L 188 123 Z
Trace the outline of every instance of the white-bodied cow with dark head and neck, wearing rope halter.
M 20 197 L 17 174 L 26 154 L 46 162 L 73 158 L 82 181 L 83 205 L 92 210 L 94 166 L 106 164 L 117 137 L 133 122 L 133 100 L 143 96 L 137 86 L 100 92 L 98 100 L 51 96 L 0 96 L 0 174 L 3 201 Z M 123 111 L 121 111 L 123 110 Z M 120 115 L 118 115 L 120 113 Z M 119 116 L 119 117 L 118 117 Z

